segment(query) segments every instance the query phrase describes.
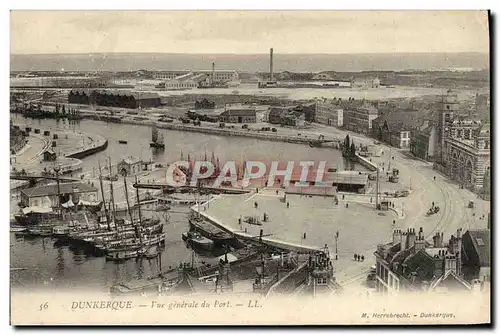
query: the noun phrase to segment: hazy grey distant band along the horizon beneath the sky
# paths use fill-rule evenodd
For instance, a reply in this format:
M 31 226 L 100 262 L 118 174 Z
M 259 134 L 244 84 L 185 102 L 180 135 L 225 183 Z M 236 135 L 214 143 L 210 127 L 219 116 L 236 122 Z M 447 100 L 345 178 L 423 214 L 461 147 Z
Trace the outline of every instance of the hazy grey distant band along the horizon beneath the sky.
M 135 71 L 209 70 L 242 72 L 269 71 L 269 55 L 239 54 L 44 54 L 11 55 L 11 71 Z M 484 53 L 396 53 L 396 54 L 279 54 L 274 55 L 276 72 L 357 72 L 489 69 Z

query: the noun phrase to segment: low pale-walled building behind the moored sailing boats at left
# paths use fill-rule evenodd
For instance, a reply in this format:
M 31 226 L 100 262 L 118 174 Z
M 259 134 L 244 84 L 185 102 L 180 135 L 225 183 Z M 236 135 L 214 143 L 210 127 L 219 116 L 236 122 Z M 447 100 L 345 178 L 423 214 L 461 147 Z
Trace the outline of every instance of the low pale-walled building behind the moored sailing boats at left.
M 72 200 L 98 201 L 97 188 L 86 183 L 59 184 L 61 204 Z M 60 205 L 57 184 L 37 186 L 21 190 L 21 204 L 25 207 L 57 207 Z

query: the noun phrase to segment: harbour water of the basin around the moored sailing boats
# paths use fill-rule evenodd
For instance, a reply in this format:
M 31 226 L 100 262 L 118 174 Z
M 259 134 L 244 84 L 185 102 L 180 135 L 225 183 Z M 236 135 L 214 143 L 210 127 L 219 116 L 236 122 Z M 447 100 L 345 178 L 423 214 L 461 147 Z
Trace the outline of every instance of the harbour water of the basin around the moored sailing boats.
M 116 164 L 128 156 L 143 160 L 153 159 L 158 163 L 169 163 L 184 158 L 202 159 L 212 152 L 220 161 L 225 160 L 311 160 L 328 161 L 330 165 L 343 167 L 339 151 L 331 148 L 311 148 L 306 145 L 268 142 L 251 138 L 221 137 L 190 132 L 159 130 L 165 139 L 165 150 L 155 153 L 149 147 L 151 128 L 140 125 L 105 123 L 82 120 L 70 124 L 67 121 L 32 120 L 20 115 L 12 115 L 16 125 L 32 128 L 60 127 L 74 129 L 82 133 L 97 134 L 105 137 L 109 145 L 106 150 L 83 159 L 83 172 L 96 169 L 98 163 L 110 157 Z M 128 144 L 119 144 L 119 140 Z M 12 208 L 12 206 L 11 206 Z M 178 266 L 181 262 L 191 261 L 191 251 L 182 241 L 181 234 L 189 227 L 187 206 L 174 206 L 170 220 L 165 223 L 167 234 L 165 250 L 161 254 L 162 269 Z M 48 289 L 93 288 L 108 291 L 113 284 L 134 278 L 146 278 L 159 270 L 158 260 L 128 260 L 122 263 L 106 261 L 70 245 L 61 245 L 56 239 L 26 238 L 11 233 L 11 283 L 23 289 L 45 287 Z M 200 261 L 210 261 L 200 257 Z

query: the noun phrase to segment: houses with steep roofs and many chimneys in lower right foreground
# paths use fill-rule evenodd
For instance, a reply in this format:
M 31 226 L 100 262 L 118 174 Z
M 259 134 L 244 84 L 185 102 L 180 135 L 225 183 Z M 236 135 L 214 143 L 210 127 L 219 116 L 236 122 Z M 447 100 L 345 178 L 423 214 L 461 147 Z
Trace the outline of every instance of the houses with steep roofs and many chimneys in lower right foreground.
M 412 228 L 395 230 L 392 242 L 379 245 L 374 253 L 377 291 L 470 291 L 473 282 L 464 271 L 471 262 L 464 255 L 462 236 L 459 229 L 445 244 L 443 233 L 436 233 L 429 243 L 422 228 L 418 233 Z

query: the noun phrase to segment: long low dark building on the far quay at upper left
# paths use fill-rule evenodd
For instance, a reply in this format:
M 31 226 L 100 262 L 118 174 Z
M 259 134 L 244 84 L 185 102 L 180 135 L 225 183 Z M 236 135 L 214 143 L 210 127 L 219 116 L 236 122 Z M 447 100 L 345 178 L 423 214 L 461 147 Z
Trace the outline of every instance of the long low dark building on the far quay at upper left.
M 68 102 L 134 109 L 158 107 L 161 105 L 161 98 L 158 93 L 149 92 L 71 90 Z

